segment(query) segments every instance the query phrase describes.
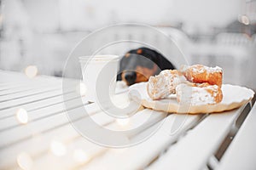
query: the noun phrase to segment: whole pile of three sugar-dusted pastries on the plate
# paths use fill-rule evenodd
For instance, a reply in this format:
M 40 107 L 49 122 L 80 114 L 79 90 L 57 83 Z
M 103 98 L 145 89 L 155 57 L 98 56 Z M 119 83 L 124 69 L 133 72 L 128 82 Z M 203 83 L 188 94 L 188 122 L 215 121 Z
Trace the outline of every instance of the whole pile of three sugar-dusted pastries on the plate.
M 186 105 L 214 105 L 223 99 L 222 69 L 205 65 L 184 65 L 180 71 L 165 70 L 149 77 L 147 90 L 151 99 L 177 94 L 177 102 Z

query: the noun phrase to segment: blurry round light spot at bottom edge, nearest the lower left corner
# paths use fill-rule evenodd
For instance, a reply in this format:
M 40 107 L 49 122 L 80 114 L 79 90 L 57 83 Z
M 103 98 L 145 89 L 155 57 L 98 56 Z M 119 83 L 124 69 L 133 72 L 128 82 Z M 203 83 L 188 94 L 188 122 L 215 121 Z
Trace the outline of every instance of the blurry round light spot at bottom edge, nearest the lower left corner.
M 17 163 L 21 169 L 30 170 L 32 169 L 32 157 L 26 152 L 22 152 L 17 156 Z

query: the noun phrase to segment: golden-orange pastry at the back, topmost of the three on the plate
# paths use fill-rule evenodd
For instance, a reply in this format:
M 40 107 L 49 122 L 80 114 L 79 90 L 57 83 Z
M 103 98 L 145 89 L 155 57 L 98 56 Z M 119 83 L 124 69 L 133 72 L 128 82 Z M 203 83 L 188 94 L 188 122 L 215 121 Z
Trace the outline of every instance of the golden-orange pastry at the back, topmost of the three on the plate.
M 189 82 L 207 82 L 211 85 L 218 85 L 219 87 L 222 85 L 223 71 L 218 66 L 207 67 L 205 65 L 183 65 L 180 71 Z

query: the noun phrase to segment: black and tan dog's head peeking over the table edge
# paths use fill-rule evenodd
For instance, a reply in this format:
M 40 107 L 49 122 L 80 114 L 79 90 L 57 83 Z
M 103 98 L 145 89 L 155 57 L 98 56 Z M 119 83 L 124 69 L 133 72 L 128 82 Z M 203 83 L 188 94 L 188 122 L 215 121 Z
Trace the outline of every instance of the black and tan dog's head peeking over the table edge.
M 174 69 L 170 61 L 150 48 L 137 48 L 125 54 L 120 60 L 118 80 L 128 86 L 137 82 L 147 82 L 150 76 L 163 69 Z

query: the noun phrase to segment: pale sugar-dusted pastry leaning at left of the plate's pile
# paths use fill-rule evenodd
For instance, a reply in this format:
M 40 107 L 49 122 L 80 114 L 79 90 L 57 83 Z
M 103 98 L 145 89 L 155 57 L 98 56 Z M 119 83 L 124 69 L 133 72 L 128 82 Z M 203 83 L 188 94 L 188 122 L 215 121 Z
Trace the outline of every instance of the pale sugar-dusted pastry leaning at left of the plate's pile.
M 187 82 L 183 74 L 177 70 L 164 70 L 158 76 L 149 77 L 147 84 L 148 95 L 151 99 L 162 99 L 176 93 L 176 87 Z

